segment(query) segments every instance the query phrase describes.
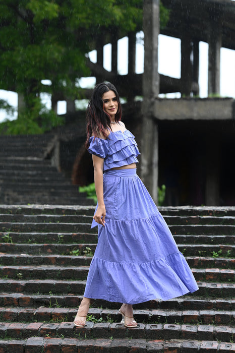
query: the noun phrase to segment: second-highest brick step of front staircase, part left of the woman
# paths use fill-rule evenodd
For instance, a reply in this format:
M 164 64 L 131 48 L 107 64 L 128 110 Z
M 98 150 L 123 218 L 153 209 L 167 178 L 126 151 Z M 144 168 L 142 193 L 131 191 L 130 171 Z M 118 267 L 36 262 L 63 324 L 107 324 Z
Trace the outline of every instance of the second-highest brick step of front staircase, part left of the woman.
M 79 195 L 85 196 L 83 193 Z M 92 216 L 87 215 L 50 215 L 50 214 L 38 214 L 38 215 L 25 215 L 25 214 L 0 214 L 1 222 L 14 222 L 14 223 L 91 223 Z

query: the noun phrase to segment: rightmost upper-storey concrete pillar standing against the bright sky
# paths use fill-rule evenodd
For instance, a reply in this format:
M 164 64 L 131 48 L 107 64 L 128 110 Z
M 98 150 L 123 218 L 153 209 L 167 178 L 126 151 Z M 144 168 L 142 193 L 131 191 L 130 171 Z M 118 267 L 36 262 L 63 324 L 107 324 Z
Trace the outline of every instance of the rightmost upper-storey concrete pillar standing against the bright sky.
M 222 28 L 219 20 L 210 24 L 208 38 L 208 96 L 220 93 L 220 49 Z

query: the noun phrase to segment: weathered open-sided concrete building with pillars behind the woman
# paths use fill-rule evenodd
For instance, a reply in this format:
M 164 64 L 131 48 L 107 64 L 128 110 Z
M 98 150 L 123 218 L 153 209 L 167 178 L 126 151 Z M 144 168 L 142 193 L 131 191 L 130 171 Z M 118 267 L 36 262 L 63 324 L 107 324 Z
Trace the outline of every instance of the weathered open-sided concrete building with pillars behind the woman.
M 97 82 L 108 80 L 127 97 L 125 122 L 140 145 L 139 174 L 156 202 L 157 186 L 165 184 L 166 205 L 234 205 L 235 102 L 217 96 L 220 49 L 235 50 L 235 3 L 230 0 L 162 0 L 162 3 L 170 10 L 170 19 L 160 30 L 159 0 L 143 2 L 144 74 L 135 73 L 135 33 L 128 34 L 127 75 L 117 72 L 118 34 L 103 38 L 103 44 L 97 47 L 97 63 L 88 61 L 88 66 Z M 181 39 L 180 79 L 158 74 L 159 33 Z M 200 41 L 209 44 L 205 99 L 197 98 Z M 103 45 L 107 42 L 112 44 L 111 72 L 103 68 Z M 183 98 L 158 97 L 159 93 L 170 92 L 181 92 Z M 143 96 L 142 103 L 135 102 L 137 95 Z M 80 150 L 74 180 L 85 156 Z

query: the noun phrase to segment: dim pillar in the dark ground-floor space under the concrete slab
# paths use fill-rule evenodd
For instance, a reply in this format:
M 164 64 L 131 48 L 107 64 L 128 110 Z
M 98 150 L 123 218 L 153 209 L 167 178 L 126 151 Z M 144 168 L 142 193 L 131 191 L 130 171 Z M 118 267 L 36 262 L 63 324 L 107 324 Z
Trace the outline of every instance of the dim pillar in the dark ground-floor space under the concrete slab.
M 206 206 L 219 206 L 220 146 L 210 139 L 206 152 Z

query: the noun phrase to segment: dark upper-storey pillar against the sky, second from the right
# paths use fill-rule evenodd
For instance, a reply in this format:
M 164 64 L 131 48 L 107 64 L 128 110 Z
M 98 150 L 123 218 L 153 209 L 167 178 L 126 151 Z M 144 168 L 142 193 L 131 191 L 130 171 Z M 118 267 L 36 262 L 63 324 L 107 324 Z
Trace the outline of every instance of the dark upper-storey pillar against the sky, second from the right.
M 189 97 L 192 88 L 192 42 L 185 31 L 181 38 L 181 94 Z

